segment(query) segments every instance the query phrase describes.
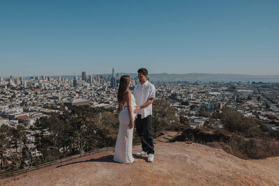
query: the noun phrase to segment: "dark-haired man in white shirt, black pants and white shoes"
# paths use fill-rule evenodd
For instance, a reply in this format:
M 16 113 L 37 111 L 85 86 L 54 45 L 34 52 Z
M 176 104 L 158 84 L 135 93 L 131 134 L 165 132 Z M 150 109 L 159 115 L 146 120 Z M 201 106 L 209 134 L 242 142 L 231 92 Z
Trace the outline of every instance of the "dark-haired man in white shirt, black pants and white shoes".
M 156 89 L 153 84 L 147 80 L 148 71 L 145 68 L 137 70 L 137 77 L 140 84 L 134 88 L 133 95 L 137 107 L 134 111 L 137 114 L 135 119 L 135 127 L 137 134 L 142 141 L 142 151 L 136 153 L 137 156 L 149 155 L 148 161 L 154 160 L 154 145 L 152 136 L 152 102 L 155 98 Z

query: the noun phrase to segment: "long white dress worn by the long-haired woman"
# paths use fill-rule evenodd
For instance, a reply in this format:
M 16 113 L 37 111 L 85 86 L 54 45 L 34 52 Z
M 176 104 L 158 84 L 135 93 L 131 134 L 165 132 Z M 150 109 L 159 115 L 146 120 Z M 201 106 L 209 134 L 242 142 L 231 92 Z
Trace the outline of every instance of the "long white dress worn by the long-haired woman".
M 131 94 L 131 109 L 134 111 L 136 106 L 135 97 Z M 133 119 L 135 119 L 133 113 Z M 116 139 L 116 145 L 114 148 L 114 162 L 119 162 L 121 164 L 130 164 L 134 162 L 134 157 L 132 155 L 133 148 L 133 128 L 129 128 L 130 117 L 128 114 L 127 102 L 122 104 L 122 110 L 119 113 L 119 132 Z

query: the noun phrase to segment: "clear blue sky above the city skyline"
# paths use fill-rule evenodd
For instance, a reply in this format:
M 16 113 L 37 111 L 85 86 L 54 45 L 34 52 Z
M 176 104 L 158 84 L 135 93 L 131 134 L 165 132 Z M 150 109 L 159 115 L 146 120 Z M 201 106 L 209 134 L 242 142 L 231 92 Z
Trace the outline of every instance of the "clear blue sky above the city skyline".
M 279 75 L 279 1 L 0 1 L 0 76 Z

